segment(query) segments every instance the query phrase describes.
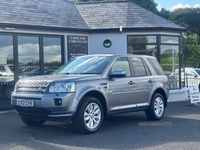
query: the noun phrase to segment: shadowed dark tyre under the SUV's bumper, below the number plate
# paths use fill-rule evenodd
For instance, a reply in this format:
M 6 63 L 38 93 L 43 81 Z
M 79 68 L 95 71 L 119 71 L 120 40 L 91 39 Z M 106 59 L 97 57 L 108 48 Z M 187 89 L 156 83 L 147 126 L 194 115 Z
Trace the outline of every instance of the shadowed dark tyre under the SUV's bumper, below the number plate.
M 21 117 L 21 120 L 28 126 L 40 126 L 44 124 L 46 121 L 46 120 L 32 119 L 32 118 L 26 118 L 26 117 Z

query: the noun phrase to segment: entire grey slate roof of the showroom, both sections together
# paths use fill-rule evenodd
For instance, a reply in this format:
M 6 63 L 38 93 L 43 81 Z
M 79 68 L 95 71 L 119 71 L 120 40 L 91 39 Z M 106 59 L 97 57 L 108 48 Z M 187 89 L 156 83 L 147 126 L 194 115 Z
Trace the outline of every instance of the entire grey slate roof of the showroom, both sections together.
M 130 1 L 0 0 L 0 24 L 75 29 L 172 28 L 184 30 Z

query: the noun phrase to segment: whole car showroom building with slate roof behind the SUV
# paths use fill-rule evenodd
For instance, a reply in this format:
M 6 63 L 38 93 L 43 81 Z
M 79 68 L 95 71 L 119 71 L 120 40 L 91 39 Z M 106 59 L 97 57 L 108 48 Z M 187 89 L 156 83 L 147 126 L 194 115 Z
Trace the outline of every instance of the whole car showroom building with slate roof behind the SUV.
M 3 96 L 19 78 L 48 74 L 76 56 L 99 53 L 154 56 L 169 76 L 172 93 L 184 87 L 181 79 L 170 74 L 182 67 L 182 35 L 186 29 L 131 1 L 0 3 Z M 0 106 L 6 107 L 7 102 L 1 100 Z

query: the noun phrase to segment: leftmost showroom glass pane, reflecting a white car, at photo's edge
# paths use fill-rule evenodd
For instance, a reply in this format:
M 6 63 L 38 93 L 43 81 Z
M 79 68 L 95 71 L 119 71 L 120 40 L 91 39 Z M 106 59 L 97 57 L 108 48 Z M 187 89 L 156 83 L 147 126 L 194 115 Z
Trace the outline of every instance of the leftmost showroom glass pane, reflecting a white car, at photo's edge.
M 0 105 L 10 104 L 13 87 L 13 37 L 0 35 Z

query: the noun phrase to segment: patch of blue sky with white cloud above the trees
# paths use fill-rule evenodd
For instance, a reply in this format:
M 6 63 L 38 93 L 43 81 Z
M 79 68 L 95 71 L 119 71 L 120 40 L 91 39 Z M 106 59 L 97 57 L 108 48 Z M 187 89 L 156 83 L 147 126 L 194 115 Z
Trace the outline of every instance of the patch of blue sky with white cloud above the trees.
M 173 11 L 177 8 L 186 8 L 186 7 L 200 8 L 200 0 L 154 0 L 154 2 L 158 4 L 157 6 L 158 10 L 160 10 L 161 8 L 165 8 L 170 11 Z

